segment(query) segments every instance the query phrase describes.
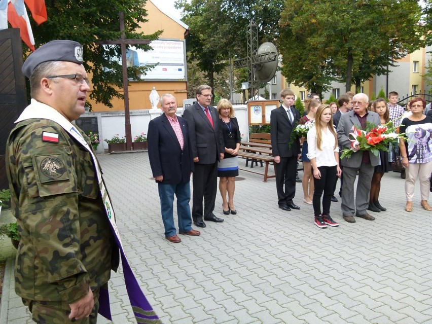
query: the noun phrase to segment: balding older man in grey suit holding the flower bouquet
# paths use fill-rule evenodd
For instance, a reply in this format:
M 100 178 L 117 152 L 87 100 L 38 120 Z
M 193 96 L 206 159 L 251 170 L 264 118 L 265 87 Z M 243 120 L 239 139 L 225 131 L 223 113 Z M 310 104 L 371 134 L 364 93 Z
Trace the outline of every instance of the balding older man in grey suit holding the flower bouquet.
M 361 151 L 359 146 L 353 146 L 348 138 L 354 126 L 357 129 L 366 130 L 367 123 L 375 126 L 380 124 L 377 113 L 369 112 L 367 106 L 369 98 L 364 93 L 357 93 L 352 98 L 352 111 L 341 116 L 338 124 L 338 145 L 343 149 L 352 149 L 354 154 L 351 157 L 342 158 L 343 165 L 343 186 L 342 186 L 342 216 L 348 223 L 355 223 L 354 214 L 368 221 L 375 220 L 375 217 L 367 212 L 369 205 L 369 191 L 371 189 L 372 175 L 379 158 L 370 151 Z M 358 172 L 357 191 L 354 204 L 354 181 Z

